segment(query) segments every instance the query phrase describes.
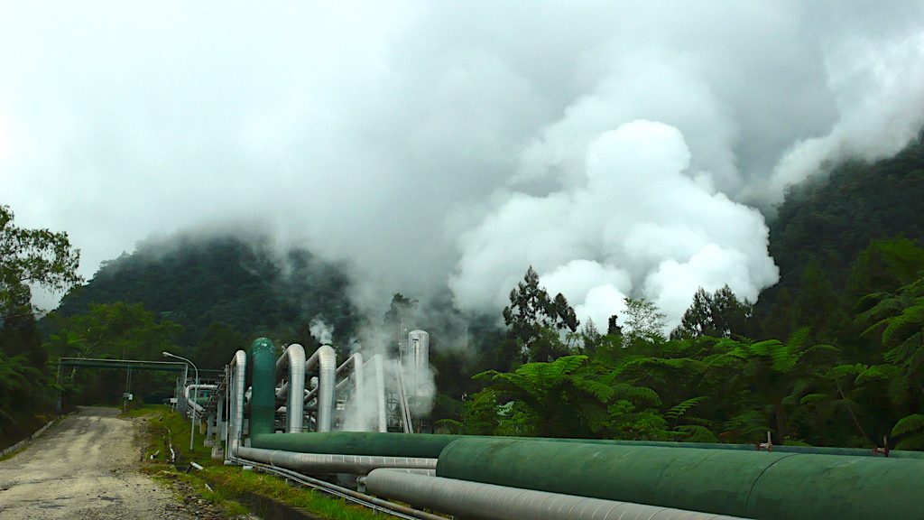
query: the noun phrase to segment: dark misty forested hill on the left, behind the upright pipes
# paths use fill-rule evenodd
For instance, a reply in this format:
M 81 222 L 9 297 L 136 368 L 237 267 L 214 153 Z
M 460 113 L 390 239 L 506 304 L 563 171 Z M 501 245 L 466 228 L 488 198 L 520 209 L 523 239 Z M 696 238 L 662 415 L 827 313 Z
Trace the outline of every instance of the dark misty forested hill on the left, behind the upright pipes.
M 265 241 L 181 235 L 142 243 L 105 263 L 67 295 L 56 314 L 86 313 L 91 303 L 143 303 L 182 325 L 186 345 L 197 344 L 213 324 L 246 336 L 285 334 L 308 343 L 316 317 L 333 326 L 336 337 L 352 333 L 347 285 L 341 268 L 305 250 L 280 259 Z

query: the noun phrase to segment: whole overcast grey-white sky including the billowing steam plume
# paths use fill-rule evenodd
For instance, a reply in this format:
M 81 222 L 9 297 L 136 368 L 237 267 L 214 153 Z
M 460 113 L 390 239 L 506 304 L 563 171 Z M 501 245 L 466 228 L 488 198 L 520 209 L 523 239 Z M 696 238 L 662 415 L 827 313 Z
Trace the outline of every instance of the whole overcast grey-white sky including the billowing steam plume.
M 258 223 L 370 308 L 499 309 L 532 264 L 675 323 L 772 285 L 785 187 L 894 154 L 922 94 L 921 2 L 0 1 L 0 203 L 88 278 Z

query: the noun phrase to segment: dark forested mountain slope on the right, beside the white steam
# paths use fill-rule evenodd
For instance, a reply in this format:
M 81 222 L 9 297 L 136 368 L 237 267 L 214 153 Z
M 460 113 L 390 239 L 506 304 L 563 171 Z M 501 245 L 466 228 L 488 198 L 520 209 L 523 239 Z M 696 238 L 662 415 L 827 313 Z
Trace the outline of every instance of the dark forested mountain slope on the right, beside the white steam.
M 850 326 L 855 307 L 918 276 L 922 202 L 921 138 L 892 158 L 847 162 L 788 192 L 770 222 L 780 281 L 761 292 L 751 334 L 786 338 L 811 324 L 816 340 L 869 349 Z

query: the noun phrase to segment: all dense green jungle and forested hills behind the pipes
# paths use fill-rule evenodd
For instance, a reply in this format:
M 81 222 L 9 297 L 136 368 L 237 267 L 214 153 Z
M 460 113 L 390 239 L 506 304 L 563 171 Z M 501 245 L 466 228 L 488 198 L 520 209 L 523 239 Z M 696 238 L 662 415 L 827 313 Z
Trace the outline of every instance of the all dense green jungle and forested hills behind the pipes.
M 394 340 L 402 327 L 431 332 L 440 393 L 430 424 L 444 431 L 711 442 L 770 431 L 776 443 L 873 447 L 885 438 L 924 449 L 921 201 L 921 142 L 809 181 L 769 220 L 780 283 L 753 305 L 727 288 L 699 291 L 668 335 L 643 299 L 606 324 L 580 324 L 531 269 L 503 313 L 461 316 L 449 298 L 425 313 L 397 293 L 375 321 Z M 306 251 L 279 260 L 253 237 L 183 235 L 142 243 L 81 285 L 66 234 L 17 229 L 4 215 L 6 438 L 53 409 L 58 356 L 161 359 L 169 350 L 217 367 L 256 336 L 316 345 L 318 318 L 342 349 L 362 326 L 344 270 Z M 37 322 L 26 281 L 78 287 Z M 64 390 L 82 402 L 117 400 L 110 378 L 125 375 L 72 371 Z M 169 378 L 133 376 L 132 389 L 155 399 Z

